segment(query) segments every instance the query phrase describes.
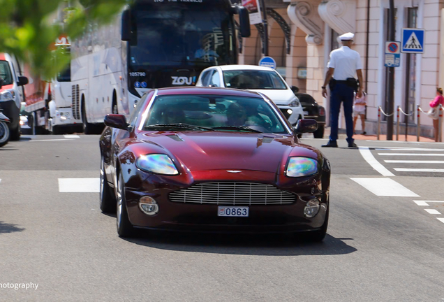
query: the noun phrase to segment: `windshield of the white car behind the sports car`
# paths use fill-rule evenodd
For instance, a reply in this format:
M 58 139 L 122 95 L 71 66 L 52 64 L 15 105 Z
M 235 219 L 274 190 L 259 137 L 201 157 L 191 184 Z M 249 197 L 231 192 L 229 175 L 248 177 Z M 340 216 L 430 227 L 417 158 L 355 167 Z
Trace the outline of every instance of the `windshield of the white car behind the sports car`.
M 223 71 L 223 80 L 225 87 L 237 89 L 287 89 L 275 71 Z

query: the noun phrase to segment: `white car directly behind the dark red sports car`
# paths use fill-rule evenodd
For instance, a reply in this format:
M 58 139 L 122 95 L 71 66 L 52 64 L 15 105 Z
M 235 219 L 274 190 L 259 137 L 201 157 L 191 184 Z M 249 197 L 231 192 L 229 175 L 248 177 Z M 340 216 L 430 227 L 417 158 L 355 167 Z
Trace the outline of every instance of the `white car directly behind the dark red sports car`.
M 289 87 L 274 69 L 254 65 L 212 66 L 200 73 L 196 86 L 248 89 L 269 97 L 281 109 L 290 124 L 304 118 L 297 87 Z

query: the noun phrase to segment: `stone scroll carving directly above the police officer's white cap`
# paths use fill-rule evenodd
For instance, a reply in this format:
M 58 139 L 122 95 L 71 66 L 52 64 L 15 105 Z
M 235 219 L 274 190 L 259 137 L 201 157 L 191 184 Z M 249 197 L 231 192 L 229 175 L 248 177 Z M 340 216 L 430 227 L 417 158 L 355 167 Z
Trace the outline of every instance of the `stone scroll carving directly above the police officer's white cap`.
M 320 17 L 338 34 L 355 32 L 356 0 L 330 0 L 318 6 Z

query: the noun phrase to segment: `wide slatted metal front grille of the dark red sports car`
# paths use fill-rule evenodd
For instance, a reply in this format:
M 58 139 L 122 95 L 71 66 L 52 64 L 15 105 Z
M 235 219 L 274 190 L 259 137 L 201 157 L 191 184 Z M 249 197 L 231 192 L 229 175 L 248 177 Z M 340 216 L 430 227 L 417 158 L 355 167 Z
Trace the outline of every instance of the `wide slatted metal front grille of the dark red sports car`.
M 231 206 L 288 204 L 295 199 L 290 192 L 252 182 L 203 182 L 170 193 L 170 201 Z

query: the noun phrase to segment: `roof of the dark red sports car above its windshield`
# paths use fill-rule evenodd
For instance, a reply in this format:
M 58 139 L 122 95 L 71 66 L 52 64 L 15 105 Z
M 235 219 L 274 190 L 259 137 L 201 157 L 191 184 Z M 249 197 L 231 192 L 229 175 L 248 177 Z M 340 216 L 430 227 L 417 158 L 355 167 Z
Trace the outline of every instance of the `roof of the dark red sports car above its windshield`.
M 230 89 L 220 87 L 168 87 L 158 89 L 157 95 L 178 95 L 178 94 L 207 94 L 226 96 L 245 96 L 262 98 L 257 92 L 249 90 Z

